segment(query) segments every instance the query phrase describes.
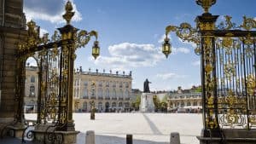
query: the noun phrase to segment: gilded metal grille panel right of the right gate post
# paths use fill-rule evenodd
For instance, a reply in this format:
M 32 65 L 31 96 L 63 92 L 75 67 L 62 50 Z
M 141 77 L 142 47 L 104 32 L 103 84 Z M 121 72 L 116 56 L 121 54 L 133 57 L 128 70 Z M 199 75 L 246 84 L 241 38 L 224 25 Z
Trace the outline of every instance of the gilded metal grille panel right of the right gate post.
M 256 126 L 256 55 L 252 42 L 243 37 L 216 38 L 218 123 L 223 128 Z

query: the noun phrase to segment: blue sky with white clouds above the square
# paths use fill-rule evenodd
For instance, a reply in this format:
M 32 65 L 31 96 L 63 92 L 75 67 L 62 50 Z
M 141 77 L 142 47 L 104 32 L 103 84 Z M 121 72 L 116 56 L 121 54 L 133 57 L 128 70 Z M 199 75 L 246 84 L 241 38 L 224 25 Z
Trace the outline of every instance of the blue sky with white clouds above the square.
M 73 0 L 76 12 L 73 26 L 99 33 L 101 56 L 93 60 L 91 41 L 78 49 L 75 66 L 84 71 L 132 71 L 133 89 L 143 89 L 143 81 L 152 82 L 150 90 L 184 89 L 201 84 L 200 56 L 193 45 L 182 43 L 171 35 L 172 54 L 166 59 L 160 53 L 161 39 L 168 25 L 189 22 L 195 26 L 195 17 L 202 13 L 195 0 Z M 35 20 L 41 32 L 55 31 L 64 26 L 61 18 L 64 0 L 25 0 L 27 20 Z M 255 0 L 217 0 L 210 12 L 229 14 L 232 21 L 241 24 L 242 16 L 256 17 Z

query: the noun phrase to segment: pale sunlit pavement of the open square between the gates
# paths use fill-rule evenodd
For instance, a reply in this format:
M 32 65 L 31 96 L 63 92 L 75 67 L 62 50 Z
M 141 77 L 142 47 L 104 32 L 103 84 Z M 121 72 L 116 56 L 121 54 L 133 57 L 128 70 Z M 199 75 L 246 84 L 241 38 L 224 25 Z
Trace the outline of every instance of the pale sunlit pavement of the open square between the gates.
M 26 114 L 35 119 L 35 114 Z M 74 113 L 78 144 L 85 143 L 87 130 L 96 133 L 96 144 L 125 144 L 126 134 L 133 135 L 134 144 L 167 144 L 171 132 L 179 132 L 182 144 L 199 144 L 196 135 L 202 128 L 201 114 L 188 113 Z

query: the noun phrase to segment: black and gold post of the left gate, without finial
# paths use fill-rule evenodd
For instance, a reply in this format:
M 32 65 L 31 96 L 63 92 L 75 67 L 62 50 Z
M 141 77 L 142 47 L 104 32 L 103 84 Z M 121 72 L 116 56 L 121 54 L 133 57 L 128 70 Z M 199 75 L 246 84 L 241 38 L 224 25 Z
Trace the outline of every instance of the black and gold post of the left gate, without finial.
M 61 51 L 63 51 L 62 59 L 62 69 L 60 72 L 61 85 L 63 86 L 63 93 L 61 94 L 61 111 L 64 115 L 60 115 L 59 120 L 61 122 L 66 122 L 66 126 L 63 127 L 63 130 L 73 131 L 73 63 L 75 59 L 75 48 L 74 48 L 74 35 L 78 31 L 77 28 L 67 24 L 64 27 L 58 28 L 61 32 L 61 39 L 67 40 L 63 42 Z M 65 52 L 66 51 L 66 52 Z M 67 80 L 67 82 L 66 82 Z M 64 84 L 67 83 L 67 84 Z M 66 100 L 66 101 L 65 101 Z M 63 106 L 63 107 L 62 107 Z M 66 108 L 65 108 L 66 106 Z M 64 112 L 63 112 L 64 111 Z M 66 116 L 66 117 L 63 117 Z

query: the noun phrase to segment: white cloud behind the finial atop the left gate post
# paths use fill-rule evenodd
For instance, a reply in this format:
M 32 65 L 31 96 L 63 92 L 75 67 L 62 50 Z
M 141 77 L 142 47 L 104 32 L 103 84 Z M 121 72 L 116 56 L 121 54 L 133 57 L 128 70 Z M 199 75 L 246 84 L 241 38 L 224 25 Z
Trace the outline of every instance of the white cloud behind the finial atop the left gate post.
M 48 20 L 52 23 L 63 23 L 65 20 L 62 18 L 62 14 L 65 13 L 66 0 L 26 0 L 24 6 L 24 12 L 26 14 L 26 20 Z M 73 0 L 71 0 L 73 3 Z M 73 21 L 82 20 L 82 14 L 79 13 L 76 4 L 73 3 Z

